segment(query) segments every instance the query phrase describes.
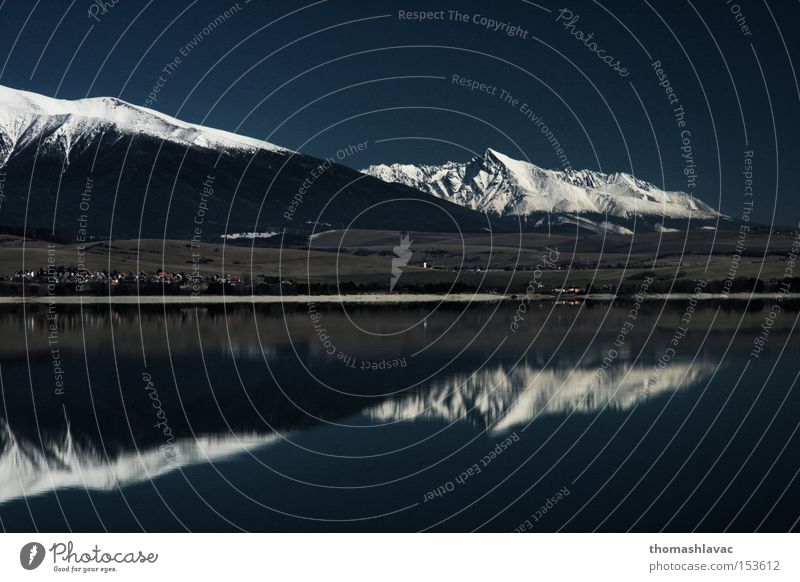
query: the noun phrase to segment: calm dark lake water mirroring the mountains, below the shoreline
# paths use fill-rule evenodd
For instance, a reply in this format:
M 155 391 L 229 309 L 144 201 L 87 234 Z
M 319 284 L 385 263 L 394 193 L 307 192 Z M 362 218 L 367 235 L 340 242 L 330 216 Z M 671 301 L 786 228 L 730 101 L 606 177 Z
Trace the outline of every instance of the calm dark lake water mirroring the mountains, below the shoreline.
M 4 306 L 0 527 L 796 530 L 797 307 L 686 307 Z

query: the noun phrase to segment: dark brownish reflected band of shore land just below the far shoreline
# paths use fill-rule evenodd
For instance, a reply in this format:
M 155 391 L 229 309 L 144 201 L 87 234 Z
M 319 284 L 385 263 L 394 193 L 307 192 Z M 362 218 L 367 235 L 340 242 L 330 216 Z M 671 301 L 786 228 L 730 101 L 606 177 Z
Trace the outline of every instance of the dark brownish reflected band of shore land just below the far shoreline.
M 642 309 L 642 321 L 634 333 L 642 334 L 656 325 L 670 328 L 676 325 L 685 309 L 685 301 L 649 301 Z M 698 309 L 698 327 L 708 325 L 715 313 L 715 330 L 738 329 L 739 333 L 758 329 L 769 313 L 774 301 L 757 299 L 702 302 Z M 443 346 L 459 349 L 466 343 L 476 349 L 506 345 L 524 349 L 533 336 L 548 328 L 540 343 L 548 343 L 555 332 L 580 333 L 598 330 L 600 334 L 616 334 L 625 321 L 625 301 L 613 305 L 606 302 L 587 302 L 583 305 L 554 305 L 549 301 L 527 305 L 525 319 L 518 333 L 509 333 L 517 303 L 507 301 L 497 304 L 444 303 L 441 305 L 400 304 L 387 306 L 318 303 L 325 328 L 340 338 L 342 347 L 350 352 L 376 353 L 402 350 L 409 343 L 425 345 L 435 338 Z M 782 313 L 774 322 L 775 330 L 791 329 L 800 301 L 781 303 Z M 144 343 L 148 349 L 166 351 L 196 350 L 200 344 L 210 348 L 238 346 L 243 352 L 252 352 L 248 346 L 258 343 L 268 346 L 276 343 L 309 342 L 313 330 L 308 307 L 305 304 L 212 304 L 202 306 L 182 305 L 56 305 L 54 307 L 59 328 L 60 344 L 82 350 L 106 346 L 113 341 L 118 351 L 141 351 Z M 0 306 L 0 355 L 14 357 L 20 353 L 46 351 L 51 320 L 48 306 L 42 304 L 7 304 Z M 457 318 L 458 333 L 448 330 Z M 424 325 L 422 323 L 424 322 Z M 371 333 L 399 333 L 392 341 L 379 338 L 377 342 L 364 341 L 363 333 L 354 333 L 354 323 Z M 112 334 L 113 331 L 113 334 Z M 198 340 L 198 336 L 200 340 Z M 27 338 L 25 341 L 24 338 Z M 22 341 L 20 341 L 22 339 Z

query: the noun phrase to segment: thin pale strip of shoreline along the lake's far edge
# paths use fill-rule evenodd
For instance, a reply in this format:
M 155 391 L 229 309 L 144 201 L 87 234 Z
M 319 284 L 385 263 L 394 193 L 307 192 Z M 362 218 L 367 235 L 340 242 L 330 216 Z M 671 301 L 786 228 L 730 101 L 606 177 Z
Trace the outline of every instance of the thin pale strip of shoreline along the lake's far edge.
M 352 304 L 406 304 L 406 303 L 490 303 L 494 301 L 633 301 L 634 295 L 611 295 L 593 293 L 590 295 L 500 295 L 494 293 L 363 293 L 349 295 L 54 295 L 54 296 L 3 296 L 0 305 L 212 305 L 212 304 L 283 304 L 283 303 L 352 303 Z M 800 293 L 652 293 L 645 301 L 678 301 L 695 298 L 700 301 L 747 301 L 800 299 Z

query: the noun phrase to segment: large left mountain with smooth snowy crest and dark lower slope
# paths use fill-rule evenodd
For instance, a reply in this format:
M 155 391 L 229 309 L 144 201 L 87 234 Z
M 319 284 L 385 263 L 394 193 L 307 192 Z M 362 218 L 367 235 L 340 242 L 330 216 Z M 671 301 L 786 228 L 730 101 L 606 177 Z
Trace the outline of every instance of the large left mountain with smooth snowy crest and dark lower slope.
M 0 87 L 6 232 L 210 242 L 285 229 L 305 240 L 315 224 L 452 232 L 448 215 L 464 231 L 486 227 L 480 213 L 366 177 L 335 163 L 336 152 L 326 158 L 113 97 L 69 101 Z M 429 212 L 431 204 L 444 212 Z M 503 231 L 501 222 L 493 228 Z

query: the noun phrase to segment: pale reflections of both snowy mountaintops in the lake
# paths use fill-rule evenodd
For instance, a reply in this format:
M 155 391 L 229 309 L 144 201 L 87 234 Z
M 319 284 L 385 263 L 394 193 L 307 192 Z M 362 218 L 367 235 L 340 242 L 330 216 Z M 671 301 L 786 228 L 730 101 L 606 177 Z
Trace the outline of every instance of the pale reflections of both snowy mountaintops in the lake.
M 363 414 L 380 422 L 438 418 L 447 422 L 473 422 L 491 431 L 519 428 L 541 414 L 596 412 L 605 406 L 625 410 L 640 402 L 653 366 L 627 366 L 598 381 L 595 369 L 543 370 L 526 365 L 513 369 L 497 366 L 472 374 L 436 379 L 413 394 L 401 393 L 365 402 Z M 670 393 L 679 386 L 707 378 L 709 364 L 669 365 L 649 396 Z M 211 404 L 211 403 L 209 403 Z M 347 411 L 352 413 L 352 411 Z M 229 423 L 236 419 L 226 417 Z M 291 431 L 291 423 L 284 430 Z M 196 463 L 224 460 L 274 443 L 273 432 L 234 434 L 221 423 L 218 432 L 182 436 L 164 444 L 104 450 L 102 437 L 92 439 L 85 427 L 65 419 L 63 427 L 48 427 L 41 442 L 15 433 L 0 419 L 0 503 L 66 487 L 110 490 Z M 87 438 L 88 437 L 88 438 Z

